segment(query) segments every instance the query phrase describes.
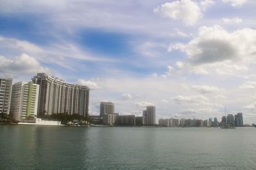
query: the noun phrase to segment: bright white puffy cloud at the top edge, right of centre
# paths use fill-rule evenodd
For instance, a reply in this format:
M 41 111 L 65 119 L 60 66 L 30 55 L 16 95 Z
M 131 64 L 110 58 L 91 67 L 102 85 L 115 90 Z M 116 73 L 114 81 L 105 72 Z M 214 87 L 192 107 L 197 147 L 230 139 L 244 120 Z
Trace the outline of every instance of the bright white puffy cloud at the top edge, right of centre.
M 202 18 L 198 4 L 191 0 L 164 3 L 155 8 L 154 12 L 160 13 L 163 17 L 172 18 L 173 20 L 182 20 L 186 25 L 194 25 L 199 18 Z

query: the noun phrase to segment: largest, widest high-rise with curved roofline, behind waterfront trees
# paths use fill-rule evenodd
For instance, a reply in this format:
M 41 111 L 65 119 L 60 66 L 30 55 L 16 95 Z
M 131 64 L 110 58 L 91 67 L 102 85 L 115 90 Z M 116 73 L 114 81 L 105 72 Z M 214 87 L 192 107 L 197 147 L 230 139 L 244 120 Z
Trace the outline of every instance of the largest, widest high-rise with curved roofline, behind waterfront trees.
M 90 93 L 88 87 L 67 83 L 46 73 L 38 73 L 32 81 L 40 85 L 38 115 L 68 113 L 88 116 Z

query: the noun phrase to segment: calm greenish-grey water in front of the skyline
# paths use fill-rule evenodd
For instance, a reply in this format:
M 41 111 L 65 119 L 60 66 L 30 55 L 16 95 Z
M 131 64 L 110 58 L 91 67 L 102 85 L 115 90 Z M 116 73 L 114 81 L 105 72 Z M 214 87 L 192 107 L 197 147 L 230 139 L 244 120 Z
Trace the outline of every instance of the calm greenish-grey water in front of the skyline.
M 0 169 L 256 169 L 256 128 L 0 125 Z

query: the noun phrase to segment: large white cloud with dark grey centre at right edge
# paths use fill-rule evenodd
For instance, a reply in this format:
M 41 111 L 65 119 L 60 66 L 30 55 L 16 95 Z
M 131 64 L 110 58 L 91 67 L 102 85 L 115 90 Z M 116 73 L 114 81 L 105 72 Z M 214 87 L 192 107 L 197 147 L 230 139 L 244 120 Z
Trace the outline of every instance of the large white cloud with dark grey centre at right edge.
M 227 32 L 223 27 L 200 27 L 198 36 L 188 44 L 171 44 L 169 51 L 181 50 L 189 64 L 212 64 L 227 60 L 243 60 L 256 53 L 256 30 Z

